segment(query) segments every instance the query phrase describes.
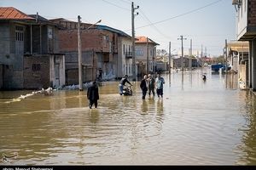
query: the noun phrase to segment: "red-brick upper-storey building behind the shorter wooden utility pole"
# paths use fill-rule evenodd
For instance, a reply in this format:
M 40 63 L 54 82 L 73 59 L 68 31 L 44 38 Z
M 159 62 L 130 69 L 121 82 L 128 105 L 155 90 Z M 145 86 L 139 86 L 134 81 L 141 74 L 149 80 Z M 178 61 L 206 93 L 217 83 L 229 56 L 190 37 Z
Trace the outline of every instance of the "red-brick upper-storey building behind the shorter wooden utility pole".
M 60 51 L 66 55 L 66 82 L 79 83 L 78 23 L 65 19 L 51 20 L 64 29 L 60 31 Z M 88 29 L 90 28 L 90 29 Z M 82 82 L 96 79 L 102 68 L 102 78 L 123 75 L 122 39 L 130 36 L 108 27 L 81 23 Z

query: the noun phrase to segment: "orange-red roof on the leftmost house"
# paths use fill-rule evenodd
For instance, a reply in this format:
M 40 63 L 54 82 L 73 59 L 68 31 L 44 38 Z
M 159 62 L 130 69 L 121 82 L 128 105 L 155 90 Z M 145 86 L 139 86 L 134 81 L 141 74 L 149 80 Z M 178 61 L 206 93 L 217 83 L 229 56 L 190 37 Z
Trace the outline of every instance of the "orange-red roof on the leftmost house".
M 34 20 L 13 7 L 0 7 L 0 20 Z

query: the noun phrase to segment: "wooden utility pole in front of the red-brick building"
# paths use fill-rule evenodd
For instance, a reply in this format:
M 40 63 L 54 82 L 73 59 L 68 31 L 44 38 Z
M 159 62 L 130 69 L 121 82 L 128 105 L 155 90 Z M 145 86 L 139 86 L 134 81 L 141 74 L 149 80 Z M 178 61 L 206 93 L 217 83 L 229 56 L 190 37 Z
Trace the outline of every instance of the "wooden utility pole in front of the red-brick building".
M 81 46 L 81 17 L 78 16 L 78 47 L 79 47 L 79 91 L 83 91 L 83 82 L 82 82 L 82 46 Z

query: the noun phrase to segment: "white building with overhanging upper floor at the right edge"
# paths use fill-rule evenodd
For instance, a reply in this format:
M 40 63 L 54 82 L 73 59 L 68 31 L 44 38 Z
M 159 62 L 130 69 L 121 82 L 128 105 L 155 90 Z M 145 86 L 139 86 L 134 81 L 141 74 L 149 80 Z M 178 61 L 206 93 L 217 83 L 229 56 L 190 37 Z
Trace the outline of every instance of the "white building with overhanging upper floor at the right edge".
M 232 0 L 236 8 L 236 39 L 249 42 L 248 88 L 256 91 L 256 2 Z

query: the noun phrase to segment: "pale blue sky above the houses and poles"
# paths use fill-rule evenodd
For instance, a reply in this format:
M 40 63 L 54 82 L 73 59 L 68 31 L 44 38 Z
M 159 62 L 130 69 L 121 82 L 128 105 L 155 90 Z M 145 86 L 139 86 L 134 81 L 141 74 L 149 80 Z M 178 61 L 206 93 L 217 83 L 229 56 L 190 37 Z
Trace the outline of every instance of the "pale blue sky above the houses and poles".
M 135 10 L 135 35 L 159 43 L 157 49 L 172 54 L 188 54 L 192 41 L 193 54 L 219 56 L 225 39 L 236 40 L 236 9 L 231 0 L 0 0 L 1 7 L 14 7 L 25 14 L 38 14 L 46 19 L 65 18 L 110 26 L 131 35 L 131 2 Z

